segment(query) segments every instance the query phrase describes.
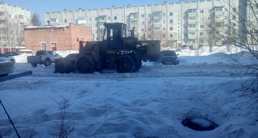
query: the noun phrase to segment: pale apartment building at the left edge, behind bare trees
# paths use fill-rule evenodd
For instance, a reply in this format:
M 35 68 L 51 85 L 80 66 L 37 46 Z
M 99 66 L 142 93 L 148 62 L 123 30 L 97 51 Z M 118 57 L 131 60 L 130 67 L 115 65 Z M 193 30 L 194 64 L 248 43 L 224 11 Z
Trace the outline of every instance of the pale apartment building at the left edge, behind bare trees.
M 0 4 L 1 48 L 13 48 L 12 50 L 14 50 L 14 48 L 25 46 L 24 36 L 21 34 L 23 34 L 24 26 L 30 26 L 30 16 L 30 10 L 7 3 Z M 8 32 L 10 34 L 7 38 Z

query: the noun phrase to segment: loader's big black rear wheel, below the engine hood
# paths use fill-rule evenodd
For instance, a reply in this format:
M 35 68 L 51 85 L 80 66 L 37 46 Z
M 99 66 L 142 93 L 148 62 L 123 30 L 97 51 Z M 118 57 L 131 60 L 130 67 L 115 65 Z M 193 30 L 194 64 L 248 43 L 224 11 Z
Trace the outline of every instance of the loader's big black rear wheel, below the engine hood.
M 115 70 L 118 73 L 131 73 L 135 71 L 135 59 L 129 55 L 119 56 L 115 60 Z

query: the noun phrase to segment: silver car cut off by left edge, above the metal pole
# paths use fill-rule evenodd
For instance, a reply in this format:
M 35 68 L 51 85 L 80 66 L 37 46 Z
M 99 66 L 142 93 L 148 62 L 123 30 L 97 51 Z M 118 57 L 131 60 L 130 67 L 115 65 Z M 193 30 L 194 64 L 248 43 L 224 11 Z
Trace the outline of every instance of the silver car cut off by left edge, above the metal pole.
M 0 58 L 0 77 L 6 77 L 9 73 L 14 72 L 14 64 L 12 61 L 6 61 Z

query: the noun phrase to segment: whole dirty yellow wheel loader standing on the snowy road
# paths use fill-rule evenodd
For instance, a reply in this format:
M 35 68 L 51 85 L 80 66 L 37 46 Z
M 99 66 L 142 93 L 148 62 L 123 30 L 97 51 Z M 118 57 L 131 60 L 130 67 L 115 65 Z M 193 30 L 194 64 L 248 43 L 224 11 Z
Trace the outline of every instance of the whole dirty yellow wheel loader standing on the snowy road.
M 142 61 L 159 62 L 162 59 L 160 40 L 146 40 L 126 36 L 126 24 L 104 23 L 102 41 L 80 41 L 79 56 L 55 59 L 55 73 L 89 74 L 103 69 L 112 69 L 118 73 L 138 71 Z

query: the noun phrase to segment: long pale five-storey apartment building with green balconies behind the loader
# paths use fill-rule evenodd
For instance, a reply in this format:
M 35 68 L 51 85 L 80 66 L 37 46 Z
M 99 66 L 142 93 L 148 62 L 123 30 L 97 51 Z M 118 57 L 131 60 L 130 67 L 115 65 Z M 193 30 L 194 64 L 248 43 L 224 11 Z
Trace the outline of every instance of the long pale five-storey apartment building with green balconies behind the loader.
M 229 6 L 229 2 L 232 5 Z M 92 27 L 92 40 L 102 40 L 104 23 L 127 24 L 127 36 L 134 28 L 139 39 L 161 40 L 163 46 L 173 48 L 182 45 L 198 48 L 205 21 L 215 18 L 220 31 L 227 27 L 229 13 L 237 10 L 238 0 L 201 0 L 144 6 L 123 6 L 105 9 L 72 10 L 44 13 L 45 25 L 66 25 L 75 23 Z M 147 36 L 144 37 L 144 36 Z M 222 42 L 217 42 L 221 44 Z M 204 44 L 205 45 L 205 44 Z

